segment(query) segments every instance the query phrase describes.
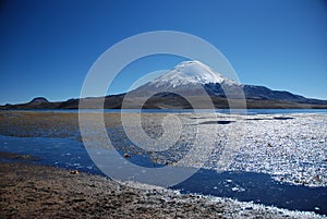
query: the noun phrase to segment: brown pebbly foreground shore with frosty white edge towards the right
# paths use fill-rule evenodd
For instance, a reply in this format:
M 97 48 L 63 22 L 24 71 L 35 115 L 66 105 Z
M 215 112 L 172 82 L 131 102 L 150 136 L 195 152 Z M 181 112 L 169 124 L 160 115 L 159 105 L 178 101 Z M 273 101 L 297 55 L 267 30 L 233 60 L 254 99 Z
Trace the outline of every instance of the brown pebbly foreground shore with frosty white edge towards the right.
M 0 163 L 0 218 L 324 218 L 27 162 Z

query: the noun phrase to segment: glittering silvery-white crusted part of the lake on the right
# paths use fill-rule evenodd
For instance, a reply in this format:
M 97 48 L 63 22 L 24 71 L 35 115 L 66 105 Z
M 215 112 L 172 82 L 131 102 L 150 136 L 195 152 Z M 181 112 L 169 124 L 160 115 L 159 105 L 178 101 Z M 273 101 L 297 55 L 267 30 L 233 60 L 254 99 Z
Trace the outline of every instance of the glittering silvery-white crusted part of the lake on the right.
M 206 145 L 205 141 L 202 143 L 201 149 L 209 150 L 209 158 L 204 163 L 194 158 L 179 166 L 268 173 L 281 182 L 327 186 L 327 114 L 207 113 L 179 117 L 183 121 L 182 135 L 166 151 L 146 153 L 133 146 L 122 127 L 110 130 L 109 136 L 117 148 L 132 154 L 148 154 L 155 163 L 174 165 L 192 148 L 196 129 L 201 126 L 206 130 L 208 138 L 215 136 L 216 139 L 214 147 Z M 162 130 L 156 124 L 158 118 L 146 118 L 145 121 L 144 130 L 152 136 L 160 136 Z M 223 154 L 226 150 L 231 151 Z M 223 159 L 223 156 L 231 157 Z

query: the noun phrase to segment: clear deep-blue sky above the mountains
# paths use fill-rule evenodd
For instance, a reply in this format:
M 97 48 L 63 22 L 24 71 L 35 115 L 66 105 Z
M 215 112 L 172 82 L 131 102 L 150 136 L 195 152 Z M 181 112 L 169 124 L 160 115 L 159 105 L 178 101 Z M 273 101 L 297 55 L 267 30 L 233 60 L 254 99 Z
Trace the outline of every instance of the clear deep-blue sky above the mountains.
M 0 105 L 36 96 L 80 96 L 109 47 L 150 31 L 178 31 L 217 47 L 241 83 L 327 99 L 327 3 L 323 0 L 1 0 Z M 128 68 L 122 93 L 149 71 L 182 59 L 159 56 Z

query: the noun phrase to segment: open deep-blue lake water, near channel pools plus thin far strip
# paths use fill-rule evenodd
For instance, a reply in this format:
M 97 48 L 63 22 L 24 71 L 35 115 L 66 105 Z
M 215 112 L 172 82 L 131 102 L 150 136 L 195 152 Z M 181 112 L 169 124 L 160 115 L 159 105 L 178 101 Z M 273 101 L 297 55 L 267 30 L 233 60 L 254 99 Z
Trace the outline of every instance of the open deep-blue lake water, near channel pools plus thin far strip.
M 53 112 L 75 112 L 77 110 L 43 110 Z M 96 110 L 87 110 L 98 112 Z M 120 110 L 105 110 L 106 113 L 120 112 Z M 125 110 L 124 112 L 135 112 Z M 182 113 L 190 110 L 145 110 L 146 113 Z M 203 110 L 203 112 L 207 112 Z M 228 113 L 228 110 L 219 110 Z M 247 110 L 247 114 L 289 114 L 289 113 L 327 113 L 327 110 Z M 73 138 L 50 137 L 11 137 L 0 135 L 0 150 L 17 154 L 28 154 L 39 157 L 40 160 L 32 162 L 48 165 L 66 169 L 77 169 L 96 174 L 104 173 L 94 165 L 84 145 Z M 98 153 L 98 151 L 97 151 Z M 106 154 L 107 153 L 107 154 Z M 123 154 L 122 151 L 120 151 Z M 101 151 L 108 156 L 110 151 Z M 121 159 L 125 159 L 122 158 Z M 145 155 L 135 155 L 129 161 L 150 168 L 160 168 L 162 165 L 152 162 Z M 8 161 L 2 159 L 1 161 Z M 13 161 L 13 160 L 10 160 Z M 19 161 L 19 160 L 16 160 Z M 20 160 L 21 161 L 21 160 Z M 186 168 L 185 168 L 186 169 Z M 308 187 L 275 181 L 271 175 L 258 172 L 225 171 L 217 173 L 215 170 L 201 169 L 186 181 L 172 186 L 182 193 L 198 193 L 222 197 L 237 198 L 244 202 L 276 206 L 287 209 L 315 211 L 327 215 L 327 187 Z

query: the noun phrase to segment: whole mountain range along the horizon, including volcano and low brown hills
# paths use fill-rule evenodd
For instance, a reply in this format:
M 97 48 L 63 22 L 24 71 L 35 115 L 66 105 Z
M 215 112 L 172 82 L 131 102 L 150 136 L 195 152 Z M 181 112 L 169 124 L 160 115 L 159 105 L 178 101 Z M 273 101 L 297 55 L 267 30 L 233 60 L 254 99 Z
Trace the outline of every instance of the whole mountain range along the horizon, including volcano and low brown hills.
M 242 95 L 239 95 L 240 90 Z M 155 95 L 153 95 L 155 94 Z M 203 104 L 204 95 L 209 96 L 215 108 L 229 108 L 228 99 L 242 99 L 245 97 L 246 108 L 318 108 L 327 109 L 327 100 L 310 99 L 289 92 L 272 90 L 265 86 L 244 85 L 226 78 L 220 73 L 199 61 L 184 61 L 164 75 L 131 90 L 126 94 L 105 97 L 104 107 L 120 109 L 125 96 L 133 96 L 129 100 L 129 108 L 147 109 L 189 109 L 192 108 L 186 98 Z M 144 105 L 140 106 L 142 97 L 150 95 Z M 84 98 L 85 108 L 95 108 L 99 97 Z M 78 99 L 49 102 L 44 97 L 34 98 L 31 102 L 22 105 L 0 106 L 0 109 L 77 109 Z

